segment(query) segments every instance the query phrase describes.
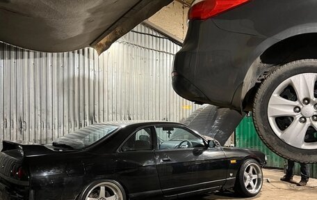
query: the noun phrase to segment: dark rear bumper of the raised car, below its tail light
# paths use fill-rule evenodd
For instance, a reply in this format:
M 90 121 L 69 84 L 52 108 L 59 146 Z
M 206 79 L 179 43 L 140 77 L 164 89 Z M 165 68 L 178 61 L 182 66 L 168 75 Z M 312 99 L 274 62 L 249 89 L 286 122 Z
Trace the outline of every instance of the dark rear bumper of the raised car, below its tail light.
M 174 58 L 174 90 L 188 100 L 240 109 L 234 100 L 241 100 L 247 59 L 260 42 L 257 36 L 222 30 L 211 19 L 191 21 Z

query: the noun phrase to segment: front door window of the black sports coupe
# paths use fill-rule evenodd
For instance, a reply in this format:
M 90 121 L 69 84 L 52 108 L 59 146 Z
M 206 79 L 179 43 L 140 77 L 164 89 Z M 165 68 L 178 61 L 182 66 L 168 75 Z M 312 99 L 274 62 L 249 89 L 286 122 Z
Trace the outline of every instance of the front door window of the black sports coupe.
M 184 128 L 156 127 L 159 150 L 204 147 L 204 140 Z

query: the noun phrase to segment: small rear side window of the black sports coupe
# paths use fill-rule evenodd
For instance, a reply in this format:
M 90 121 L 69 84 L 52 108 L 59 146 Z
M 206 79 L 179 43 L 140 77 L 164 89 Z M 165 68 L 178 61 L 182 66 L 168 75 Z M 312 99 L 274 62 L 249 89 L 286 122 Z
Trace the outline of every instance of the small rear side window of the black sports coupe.
M 145 151 L 152 150 L 151 128 L 143 128 L 135 132 L 124 143 L 121 151 Z

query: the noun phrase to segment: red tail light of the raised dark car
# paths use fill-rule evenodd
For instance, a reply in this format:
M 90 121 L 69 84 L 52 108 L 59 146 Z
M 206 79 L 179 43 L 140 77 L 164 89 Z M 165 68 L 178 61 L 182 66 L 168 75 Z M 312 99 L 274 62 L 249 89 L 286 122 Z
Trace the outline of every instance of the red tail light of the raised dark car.
M 250 0 L 196 0 L 188 11 L 188 20 L 206 20 Z

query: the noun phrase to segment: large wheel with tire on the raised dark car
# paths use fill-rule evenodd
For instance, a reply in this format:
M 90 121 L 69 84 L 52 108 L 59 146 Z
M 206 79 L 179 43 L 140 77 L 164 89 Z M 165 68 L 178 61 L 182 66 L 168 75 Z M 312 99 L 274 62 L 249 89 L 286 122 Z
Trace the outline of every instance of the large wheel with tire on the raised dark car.
M 272 151 L 296 162 L 317 162 L 317 60 L 272 72 L 257 91 L 253 119 Z

